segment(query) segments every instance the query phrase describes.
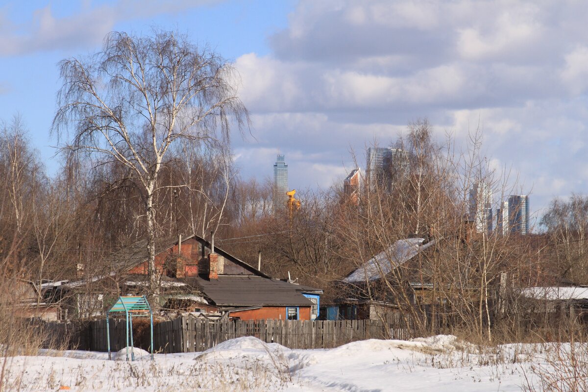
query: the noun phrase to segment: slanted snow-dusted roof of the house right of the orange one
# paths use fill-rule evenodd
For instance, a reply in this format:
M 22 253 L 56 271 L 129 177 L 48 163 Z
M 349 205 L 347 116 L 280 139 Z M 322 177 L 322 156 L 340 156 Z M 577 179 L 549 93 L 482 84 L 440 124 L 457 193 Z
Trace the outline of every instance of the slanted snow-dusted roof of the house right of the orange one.
M 406 263 L 408 260 L 419 254 L 419 252 L 422 252 L 435 243 L 435 240 L 432 240 L 423 245 L 422 243 L 424 241 L 424 238 L 406 238 L 403 240 L 397 240 L 384 252 L 376 254 L 376 256 L 364 263 L 363 266 L 349 274 L 348 277 L 343 279 L 343 282 L 365 282 L 368 280 L 366 277 L 368 277 L 369 280 L 376 280 L 380 279 L 382 275 L 386 276 L 397 266 Z

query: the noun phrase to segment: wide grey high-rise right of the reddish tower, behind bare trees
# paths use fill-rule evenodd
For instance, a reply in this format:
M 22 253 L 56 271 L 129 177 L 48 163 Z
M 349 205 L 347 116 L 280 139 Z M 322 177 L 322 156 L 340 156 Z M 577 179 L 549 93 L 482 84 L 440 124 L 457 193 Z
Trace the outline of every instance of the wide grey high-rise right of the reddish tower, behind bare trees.
M 396 175 L 407 175 L 410 170 L 405 150 L 392 147 L 370 147 L 366 162 L 366 180 L 370 189 L 376 185 L 388 187 Z

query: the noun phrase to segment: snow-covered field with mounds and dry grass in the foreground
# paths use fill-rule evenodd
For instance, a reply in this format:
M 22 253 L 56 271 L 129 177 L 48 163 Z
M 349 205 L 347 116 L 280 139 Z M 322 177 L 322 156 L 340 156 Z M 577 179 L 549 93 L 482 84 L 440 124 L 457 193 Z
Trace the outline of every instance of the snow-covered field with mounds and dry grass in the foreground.
M 530 384 L 539 390 L 537 369 L 550 369 L 546 347 L 480 349 L 434 336 L 290 350 L 243 337 L 203 353 L 156 354 L 154 361 L 137 353 L 127 362 L 124 350 L 111 361 L 106 353 L 44 351 L 9 358 L 4 390 L 461 392 L 520 391 Z

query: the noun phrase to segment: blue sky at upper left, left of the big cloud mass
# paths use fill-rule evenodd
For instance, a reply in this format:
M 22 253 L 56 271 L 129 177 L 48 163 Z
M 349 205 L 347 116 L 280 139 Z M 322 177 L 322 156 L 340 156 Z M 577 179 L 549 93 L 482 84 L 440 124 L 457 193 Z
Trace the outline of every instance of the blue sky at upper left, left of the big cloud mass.
M 109 31 L 149 33 L 153 26 L 188 33 L 194 42 L 211 45 L 231 61 L 248 52 L 267 55 L 267 37 L 286 27 L 293 5 L 270 0 L 169 2 L 176 4 L 173 9 L 166 2 L 146 3 L 153 9 L 125 16 L 116 15 L 117 10 L 141 8 L 142 2 L 0 2 L 0 22 L 6 22 L 0 23 L 4 25 L 0 38 L 22 42 L 0 50 L 0 119 L 9 120 L 17 113 L 22 116 L 50 172 L 59 167 L 52 148 L 57 140 L 49 135 L 59 89 L 59 61 L 98 51 Z M 166 12 L 167 8 L 172 9 Z M 88 20 L 95 24 L 84 25 Z M 66 31 L 60 32 L 61 28 Z M 54 37 L 46 39 L 44 35 Z

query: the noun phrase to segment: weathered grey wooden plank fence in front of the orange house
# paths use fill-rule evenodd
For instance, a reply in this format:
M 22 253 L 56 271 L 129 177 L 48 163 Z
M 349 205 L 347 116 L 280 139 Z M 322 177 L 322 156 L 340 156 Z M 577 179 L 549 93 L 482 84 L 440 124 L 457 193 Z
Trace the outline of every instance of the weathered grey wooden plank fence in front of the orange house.
M 111 350 L 125 347 L 125 321 L 111 320 Z M 106 351 L 106 320 L 89 325 L 90 349 Z M 148 349 L 149 331 L 135 332 L 135 346 Z M 211 321 L 180 317 L 153 326 L 153 346 L 161 353 L 205 351 L 225 340 L 254 336 L 266 343 L 278 343 L 290 349 L 330 349 L 356 340 L 409 339 L 404 325 L 376 320 L 302 321 L 255 320 Z

